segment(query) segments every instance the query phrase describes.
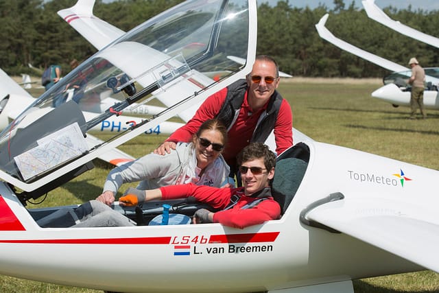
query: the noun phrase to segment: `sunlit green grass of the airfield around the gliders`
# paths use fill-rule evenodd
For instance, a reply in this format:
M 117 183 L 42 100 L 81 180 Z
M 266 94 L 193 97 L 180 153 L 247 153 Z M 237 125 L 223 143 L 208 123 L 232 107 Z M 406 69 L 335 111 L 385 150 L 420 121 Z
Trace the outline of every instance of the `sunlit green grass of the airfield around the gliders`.
M 293 79 L 283 82 L 278 90 L 292 105 L 294 127 L 316 141 L 439 169 L 439 111 L 429 110 L 426 120 L 408 120 L 408 108 L 393 108 L 370 97 L 379 86 L 379 81 Z M 163 139 L 165 137 L 148 137 L 148 140 L 138 137 L 120 149 L 141 156 Z M 111 167 L 99 161 L 95 165 L 90 172 L 51 191 L 42 205 L 81 203 L 99 195 Z M 356 293 L 433 293 L 439 292 L 439 274 L 423 271 L 361 279 L 354 281 L 354 288 Z M 98 292 L 4 276 L 0 276 L 0 291 Z

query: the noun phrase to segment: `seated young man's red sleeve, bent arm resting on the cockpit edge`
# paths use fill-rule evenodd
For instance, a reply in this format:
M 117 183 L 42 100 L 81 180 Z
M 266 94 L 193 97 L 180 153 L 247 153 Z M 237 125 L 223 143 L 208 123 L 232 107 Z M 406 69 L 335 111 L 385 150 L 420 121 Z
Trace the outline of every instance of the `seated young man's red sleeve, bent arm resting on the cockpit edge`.
M 274 200 L 263 200 L 252 209 L 228 209 L 218 211 L 213 215 L 213 222 L 234 228 L 262 224 L 269 220 L 276 220 L 281 215 L 281 207 Z

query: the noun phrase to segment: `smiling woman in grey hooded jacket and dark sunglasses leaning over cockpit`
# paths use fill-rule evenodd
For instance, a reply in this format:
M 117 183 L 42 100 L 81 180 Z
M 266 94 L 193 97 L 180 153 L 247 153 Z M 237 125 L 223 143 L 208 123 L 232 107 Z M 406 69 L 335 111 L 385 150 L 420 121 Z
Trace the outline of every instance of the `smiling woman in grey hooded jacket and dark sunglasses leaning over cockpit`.
M 112 169 L 96 200 L 112 204 L 123 183 L 137 181 L 141 190 L 185 183 L 222 187 L 230 173 L 221 155 L 226 143 L 226 127 L 217 119 L 209 119 L 191 143 L 178 143 L 176 150 L 165 156 L 151 153 Z

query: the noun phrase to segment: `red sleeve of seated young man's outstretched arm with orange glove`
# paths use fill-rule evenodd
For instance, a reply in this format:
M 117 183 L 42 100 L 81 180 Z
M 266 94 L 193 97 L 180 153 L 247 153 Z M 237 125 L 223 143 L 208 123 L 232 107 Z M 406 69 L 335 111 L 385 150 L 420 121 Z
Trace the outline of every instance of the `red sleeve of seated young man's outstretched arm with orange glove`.
M 244 187 L 238 188 L 239 190 Z M 236 188 L 218 188 L 193 183 L 160 187 L 163 200 L 187 198 L 193 196 L 200 202 L 210 204 L 215 209 L 224 209 L 230 203 L 230 197 Z

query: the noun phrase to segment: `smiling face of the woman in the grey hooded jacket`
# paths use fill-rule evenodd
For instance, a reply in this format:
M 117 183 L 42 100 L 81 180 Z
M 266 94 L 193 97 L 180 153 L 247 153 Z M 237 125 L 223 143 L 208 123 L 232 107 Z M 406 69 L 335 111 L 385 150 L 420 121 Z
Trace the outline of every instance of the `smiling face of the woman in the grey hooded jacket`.
M 209 143 L 208 146 L 203 146 L 202 143 Z M 224 138 L 218 130 L 203 130 L 200 136 L 193 137 L 193 145 L 195 145 L 195 154 L 197 156 L 197 167 L 204 169 L 210 163 L 213 163 L 221 154 L 221 151 L 214 150 L 215 145 L 224 146 Z

